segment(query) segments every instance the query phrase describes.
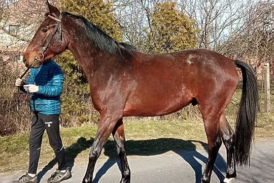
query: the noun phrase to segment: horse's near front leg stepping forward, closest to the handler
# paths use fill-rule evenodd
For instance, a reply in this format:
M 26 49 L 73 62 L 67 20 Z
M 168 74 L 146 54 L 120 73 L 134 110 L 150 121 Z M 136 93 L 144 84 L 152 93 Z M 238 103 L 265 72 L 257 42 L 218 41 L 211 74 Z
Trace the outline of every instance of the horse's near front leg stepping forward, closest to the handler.
M 111 132 L 113 131 L 117 121 L 122 118 L 122 115 L 113 112 L 101 113 L 97 133 L 94 142 L 90 149 L 88 166 L 86 174 L 83 178 L 83 183 L 91 183 L 94 171 L 94 166 L 101 154 L 102 147 L 108 140 Z

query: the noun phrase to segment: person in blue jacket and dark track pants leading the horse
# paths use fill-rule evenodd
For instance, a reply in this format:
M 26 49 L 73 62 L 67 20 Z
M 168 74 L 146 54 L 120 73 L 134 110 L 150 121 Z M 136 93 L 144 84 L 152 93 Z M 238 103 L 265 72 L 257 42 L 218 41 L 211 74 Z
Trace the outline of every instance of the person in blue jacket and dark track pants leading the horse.
M 60 182 L 70 178 L 71 173 L 66 167 L 59 133 L 60 95 L 63 87 L 63 73 L 60 67 L 53 60 L 49 60 L 39 68 L 31 69 L 25 82 L 20 78 L 16 79 L 15 86 L 19 86 L 23 92 L 28 89 L 33 116 L 29 136 L 29 168 L 25 175 L 13 182 L 37 182 L 36 173 L 45 130 L 58 162 L 58 169 L 48 178 L 48 182 Z

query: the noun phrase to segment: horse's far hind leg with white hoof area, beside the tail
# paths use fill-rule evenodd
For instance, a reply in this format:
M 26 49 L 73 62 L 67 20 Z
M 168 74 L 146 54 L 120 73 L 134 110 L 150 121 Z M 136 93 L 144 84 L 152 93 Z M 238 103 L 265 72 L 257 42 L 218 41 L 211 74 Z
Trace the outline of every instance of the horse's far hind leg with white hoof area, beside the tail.
M 235 133 L 228 124 L 228 121 L 223 113 L 220 118 L 220 133 L 224 142 L 227 154 L 227 169 L 224 183 L 233 183 L 236 181 L 235 167 Z

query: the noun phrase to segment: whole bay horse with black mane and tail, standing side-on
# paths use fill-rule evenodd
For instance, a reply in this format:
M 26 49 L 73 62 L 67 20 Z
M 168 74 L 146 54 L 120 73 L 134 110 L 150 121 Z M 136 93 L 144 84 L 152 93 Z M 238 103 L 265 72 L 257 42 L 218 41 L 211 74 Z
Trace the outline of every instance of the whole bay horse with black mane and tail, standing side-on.
M 145 54 L 117 42 L 84 17 L 46 4 L 48 16 L 23 62 L 37 68 L 68 49 L 88 79 L 100 118 L 82 182 L 92 182 L 95 163 L 111 134 L 121 162 L 120 182 L 130 182 L 124 116 L 165 115 L 189 104 L 198 105 L 208 138 L 209 157 L 200 182 L 210 182 L 222 142 L 227 150 L 224 182 L 235 181 L 235 166 L 249 163 L 258 111 L 257 80 L 249 65 L 205 49 Z M 234 132 L 224 111 L 238 84 L 236 67 L 242 70 L 243 90 Z

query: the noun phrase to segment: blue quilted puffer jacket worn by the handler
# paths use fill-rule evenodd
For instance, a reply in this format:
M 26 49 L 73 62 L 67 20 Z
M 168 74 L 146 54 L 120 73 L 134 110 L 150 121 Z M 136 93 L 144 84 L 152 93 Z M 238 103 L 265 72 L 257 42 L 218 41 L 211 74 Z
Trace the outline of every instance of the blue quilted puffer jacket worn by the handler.
M 31 110 L 45 115 L 60 114 L 63 81 L 63 73 L 53 60 L 31 69 L 25 84 L 39 86 L 38 93 L 31 96 Z

